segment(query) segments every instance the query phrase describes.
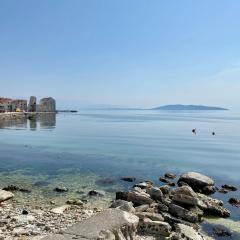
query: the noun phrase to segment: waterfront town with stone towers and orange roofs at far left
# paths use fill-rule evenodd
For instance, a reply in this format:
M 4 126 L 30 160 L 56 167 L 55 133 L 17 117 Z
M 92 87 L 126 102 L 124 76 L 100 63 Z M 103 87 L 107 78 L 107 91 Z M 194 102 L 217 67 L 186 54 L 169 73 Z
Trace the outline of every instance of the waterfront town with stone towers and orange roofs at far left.
M 0 97 L 0 113 L 9 112 L 56 112 L 56 101 L 52 97 L 37 98 L 31 96 L 29 102 L 25 99 L 11 99 Z

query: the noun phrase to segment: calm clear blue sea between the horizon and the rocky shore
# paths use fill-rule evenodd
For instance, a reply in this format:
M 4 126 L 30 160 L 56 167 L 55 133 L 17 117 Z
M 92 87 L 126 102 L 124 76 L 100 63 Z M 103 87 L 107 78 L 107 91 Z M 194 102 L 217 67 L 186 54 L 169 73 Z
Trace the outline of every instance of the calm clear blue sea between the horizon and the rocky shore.
M 122 176 L 160 185 L 168 171 L 197 171 L 240 187 L 240 114 L 231 111 L 89 110 L 0 128 L 0 185 L 25 184 L 44 198 L 58 184 L 73 195 L 98 188 L 111 197 L 130 187 Z M 239 193 L 217 194 L 225 202 L 230 196 Z M 232 218 L 239 216 L 235 209 Z

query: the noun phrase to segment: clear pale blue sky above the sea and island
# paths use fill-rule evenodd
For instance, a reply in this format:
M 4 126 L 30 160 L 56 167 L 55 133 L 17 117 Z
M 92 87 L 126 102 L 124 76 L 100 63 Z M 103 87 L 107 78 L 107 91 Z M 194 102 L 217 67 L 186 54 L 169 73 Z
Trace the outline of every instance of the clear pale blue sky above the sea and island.
M 240 109 L 239 0 L 0 0 L 0 96 Z

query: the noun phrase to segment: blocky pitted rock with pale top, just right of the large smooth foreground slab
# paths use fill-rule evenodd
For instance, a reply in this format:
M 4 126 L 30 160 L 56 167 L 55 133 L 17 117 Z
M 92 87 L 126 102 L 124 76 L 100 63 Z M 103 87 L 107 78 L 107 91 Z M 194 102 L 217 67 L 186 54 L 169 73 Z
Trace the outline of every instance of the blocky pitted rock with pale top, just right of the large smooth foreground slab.
M 169 237 L 171 234 L 171 226 L 162 221 L 152 221 L 144 218 L 139 221 L 139 231 L 145 234 L 157 234 L 158 236 Z

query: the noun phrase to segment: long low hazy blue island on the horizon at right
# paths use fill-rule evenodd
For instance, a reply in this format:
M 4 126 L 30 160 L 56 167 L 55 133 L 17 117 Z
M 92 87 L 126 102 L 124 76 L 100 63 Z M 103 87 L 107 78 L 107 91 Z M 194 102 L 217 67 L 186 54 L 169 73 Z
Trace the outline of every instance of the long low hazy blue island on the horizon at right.
M 151 110 L 201 110 L 201 111 L 209 111 L 209 110 L 228 110 L 227 108 L 222 107 L 212 107 L 212 106 L 203 106 L 203 105 L 165 105 L 160 107 L 152 108 Z

